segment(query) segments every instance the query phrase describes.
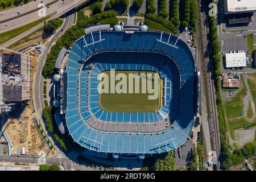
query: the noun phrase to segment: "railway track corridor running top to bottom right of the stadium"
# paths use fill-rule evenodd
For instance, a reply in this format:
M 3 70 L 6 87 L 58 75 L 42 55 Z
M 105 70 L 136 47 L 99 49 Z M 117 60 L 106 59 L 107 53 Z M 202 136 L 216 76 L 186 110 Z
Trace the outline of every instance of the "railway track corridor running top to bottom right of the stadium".
M 217 106 L 216 106 L 216 94 L 215 94 L 215 88 L 214 88 L 214 80 L 213 78 L 213 67 L 212 63 L 209 60 L 209 55 L 207 54 L 210 49 L 208 47 L 209 40 L 207 38 L 207 35 L 209 35 L 209 26 L 208 26 L 208 7 L 207 3 L 205 1 L 199 0 L 199 4 L 201 5 L 200 10 L 200 21 L 201 21 L 201 30 L 202 34 L 201 37 L 197 35 L 197 38 L 199 39 L 198 42 L 203 43 L 203 47 L 200 46 L 199 48 L 199 55 L 203 55 L 204 57 L 201 57 L 202 63 L 200 63 L 200 71 L 204 72 L 206 75 L 204 75 L 203 80 L 201 80 L 201 92 L 204 92 L 205 86 L 207 86 L 207 94 L 204 93 L 201 96 L 207 97 L 206 100 L 208 100 L 208 103 L 206 102 L 205 98 L 203 97 L 203 105 L 209 105 L 209 110 L 207 111 L 205 107 L 203 108 L 204 111 L 207 111 L 208 120 L 209 120 L 209 130 L 211 137 L 213 138 L 213 150 L 216 151 L 217 155 L 217 170 L 220 169 L 220 161 L 218 160 L 220 156 L 220 133 L 219 133 L 219 127 L 218 127 L 218 114 L 217 114 Z M 203 51 L 203 52 L 201 52 Z M 205 80 L 206 79 L 206 80 Z M 202 103 L 202 102 L 201 102 Z M 201 106 L 202 108 L 202 106 Z M 207 119 L 207 118 L 205 118 Z

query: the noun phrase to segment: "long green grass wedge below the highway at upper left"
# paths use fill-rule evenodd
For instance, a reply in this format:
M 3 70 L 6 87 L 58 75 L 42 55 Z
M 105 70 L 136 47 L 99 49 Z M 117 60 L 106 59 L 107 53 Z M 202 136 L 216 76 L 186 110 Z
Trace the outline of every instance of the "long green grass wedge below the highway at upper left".
M 18 35 L 22 34 L 23 32 L 30 30 L 30 28 L 37 26 L 38 24 L 44 22 L 48 18 L 50 18 L 50 16 L 46 16 L 42 19 L 39 19 L 39 20 L 36 20 L 35 22 L 26 24 L 22 27 L 18 27 L 13 30 L 1 33 L 0 34 L 0 44 L 3 44 L 5 42 L 7 42 L 8 40 L 15 38 L 15 36 L 18 36 Z

